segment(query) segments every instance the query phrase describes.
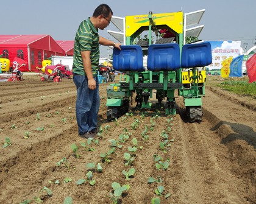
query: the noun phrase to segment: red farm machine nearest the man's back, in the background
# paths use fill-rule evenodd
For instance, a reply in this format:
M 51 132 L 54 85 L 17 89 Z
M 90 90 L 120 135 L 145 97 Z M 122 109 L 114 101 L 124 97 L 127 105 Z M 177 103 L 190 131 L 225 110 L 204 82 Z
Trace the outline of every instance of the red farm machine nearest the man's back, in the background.
M 72 71 L 68 69 L 68 66 L 59 64 L 59 65 L 49 65 L 45 66 L 44 75 L 40 77 L 41 81 L 53 81 L 53 82 L 61 82 L 62 78 L 71 79 Z

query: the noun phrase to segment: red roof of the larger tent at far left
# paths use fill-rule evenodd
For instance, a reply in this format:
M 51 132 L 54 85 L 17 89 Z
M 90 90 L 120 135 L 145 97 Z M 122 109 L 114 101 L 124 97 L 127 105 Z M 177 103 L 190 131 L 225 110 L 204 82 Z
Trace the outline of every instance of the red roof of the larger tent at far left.
M 31 47 L 65 54 L 50 35 L 0 35 L 0 47 Z

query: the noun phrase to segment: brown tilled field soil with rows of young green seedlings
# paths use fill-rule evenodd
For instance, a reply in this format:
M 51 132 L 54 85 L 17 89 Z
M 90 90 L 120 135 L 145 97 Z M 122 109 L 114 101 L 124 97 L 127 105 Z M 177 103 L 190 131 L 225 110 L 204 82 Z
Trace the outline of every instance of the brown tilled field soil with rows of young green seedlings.
M 256 100 L 215 87 L 220 77 L 207 77 L 201 124 L 187 121 L 178 96 L 175 116 L 135 110 L 133 104 L 128 114 L 109 122 L 109 83 L 100 84 L 102 133 L 91 144 L 77 135 L 73 80 L 24 79 L 0 82 L 0 203 L 57 204 L 67 197 L 79 204 L 112 203 L 113 182 L 130 186 L 117 203 L 151 203 L 154 197 L 166 204 L 256 203 Z M 96 167 L 88 167 L 91 163 Z M 126 178 L 123 171 L 132 168 L 135 173 Z

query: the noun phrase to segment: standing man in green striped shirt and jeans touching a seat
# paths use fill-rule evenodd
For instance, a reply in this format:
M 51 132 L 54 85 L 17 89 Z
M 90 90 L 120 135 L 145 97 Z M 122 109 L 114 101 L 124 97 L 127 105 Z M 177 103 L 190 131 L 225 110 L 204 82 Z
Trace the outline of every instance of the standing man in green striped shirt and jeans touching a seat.
M 76 119 L 79 136 L 93 138 L 98 133 L 99 111 L 99 44 L 121 49 L 120 43 L 100 37 L 98 29 L 104 30 L 113 12 L 107 4 L 99 5 L 91 18 L 80 24 L 74 40 L 73 80 L 77 88 Z

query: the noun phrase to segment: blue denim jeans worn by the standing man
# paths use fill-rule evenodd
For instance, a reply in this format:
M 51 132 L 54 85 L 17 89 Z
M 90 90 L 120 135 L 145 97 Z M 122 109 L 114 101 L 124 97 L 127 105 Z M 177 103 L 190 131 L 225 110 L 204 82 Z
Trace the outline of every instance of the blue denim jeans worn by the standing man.
M 77 88 L 76 121 L 79 135 L 84 135 L 97 127 L 99 112 L 99 81 L 96 77 L 96 89 L 88 88 L 87 76 L 73 75 L 73 82 Z

